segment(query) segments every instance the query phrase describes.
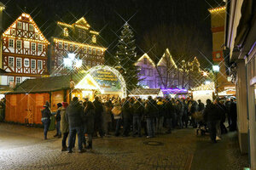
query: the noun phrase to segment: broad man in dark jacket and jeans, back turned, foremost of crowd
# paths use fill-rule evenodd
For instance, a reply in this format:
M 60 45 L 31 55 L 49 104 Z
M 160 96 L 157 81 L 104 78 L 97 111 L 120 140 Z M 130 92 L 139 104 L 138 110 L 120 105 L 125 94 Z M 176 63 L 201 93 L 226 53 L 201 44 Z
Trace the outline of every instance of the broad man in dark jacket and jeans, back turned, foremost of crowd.
M 75 132 L 78 133 L 79 139 L 79 152 L 83 152 L 82 139 L 83 139 L 83 119 L 84 108 L 79 105 L 79 99 L 73 98 L 70 105 L 67 106 L 66 119 L 69 124 L 69 139 L 68 139 L 68 153 L 72 153 L 73 137 Z

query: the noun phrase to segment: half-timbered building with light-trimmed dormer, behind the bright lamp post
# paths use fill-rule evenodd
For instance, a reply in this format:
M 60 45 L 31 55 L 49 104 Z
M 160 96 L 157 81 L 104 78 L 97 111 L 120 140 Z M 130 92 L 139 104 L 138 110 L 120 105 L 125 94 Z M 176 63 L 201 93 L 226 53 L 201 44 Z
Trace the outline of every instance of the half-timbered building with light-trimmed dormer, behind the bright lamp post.
M 76 58 L 83 60 L 82 70 L 104 64 L 106 48 L 97 41 L 99 32 L 93 31 L 84 17 L 73 24 L 58 21 L 56 25 L 49 51 L 51 76 L 67 74 L 64 65 L 67 54 L 75 54 Z

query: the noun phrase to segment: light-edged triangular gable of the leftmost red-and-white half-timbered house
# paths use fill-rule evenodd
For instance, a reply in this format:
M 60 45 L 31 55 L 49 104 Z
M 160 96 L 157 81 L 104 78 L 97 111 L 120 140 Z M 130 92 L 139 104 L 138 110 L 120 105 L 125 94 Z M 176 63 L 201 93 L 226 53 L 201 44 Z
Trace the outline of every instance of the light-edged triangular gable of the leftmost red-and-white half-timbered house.
M 17 29 L 18 23 L 20 24 L 20 29 Z M 32 35 L 32 31 L 29 31 L 30 26 L 32 26 L 32 30 L 37 34 L 37 37 Z M 25 13 L 22 13 L 20 17 L 18 17 L 18 19 L 15 20 L 15 22 L 9 26 L 6 31 L 3 32 L 3 37 L 20 37 L 33 41 L 49 43 L 48 40 L 44 37 L 43 33 L 40 31 L 38 25 L 34 20 L 32 20 L 31 15 Z

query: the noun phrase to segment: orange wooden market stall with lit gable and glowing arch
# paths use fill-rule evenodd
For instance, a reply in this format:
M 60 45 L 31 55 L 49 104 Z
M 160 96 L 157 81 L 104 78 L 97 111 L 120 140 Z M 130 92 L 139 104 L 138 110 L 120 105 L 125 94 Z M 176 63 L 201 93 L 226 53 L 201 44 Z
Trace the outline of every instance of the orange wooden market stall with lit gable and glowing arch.
M 61 76 L 27 79 L 13 91 L 6 94 L 5 121 L 20 123 L 41 123 L 41 109 L 49 101 L 51 111 L 57 104 L 70 102 L 73 97 L 79 100 L 95 96 L 102 99 L 126 97 L 124 78 L 119 71 L 107 65 L 97 65 L 89 71 Z

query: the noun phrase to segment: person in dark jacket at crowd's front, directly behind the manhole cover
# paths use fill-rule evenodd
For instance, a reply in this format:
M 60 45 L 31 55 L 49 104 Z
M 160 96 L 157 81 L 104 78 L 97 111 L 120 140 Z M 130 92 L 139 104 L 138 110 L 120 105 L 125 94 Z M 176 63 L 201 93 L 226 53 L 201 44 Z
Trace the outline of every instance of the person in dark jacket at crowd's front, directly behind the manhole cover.
M 155 116 L 158 114 L 158 108 L 156 101 L 152 99 L 151 96 L 148 96 L 148 102 L 145 105 L 145 115 L 147 119 L 147 130 L 148 130 L 148 136 L 147 138 L 153 138 L 154 137 L 154 119 Z

